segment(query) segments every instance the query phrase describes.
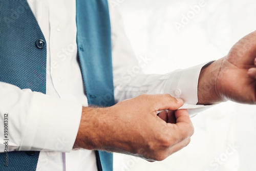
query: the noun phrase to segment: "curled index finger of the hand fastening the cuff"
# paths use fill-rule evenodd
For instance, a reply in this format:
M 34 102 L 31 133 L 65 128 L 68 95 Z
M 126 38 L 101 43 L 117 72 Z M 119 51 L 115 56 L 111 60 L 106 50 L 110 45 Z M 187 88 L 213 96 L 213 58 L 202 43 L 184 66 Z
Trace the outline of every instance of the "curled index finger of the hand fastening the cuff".
M 171 144 L 177 144 L 194 134 L 194 126 L 189 118 L 187 110 L 183 109 L 175 111 L 175 116 L 177 118 L 177 123 L 168 123 L 170 127 L 170 133 L 173 135 L 170 137 Z

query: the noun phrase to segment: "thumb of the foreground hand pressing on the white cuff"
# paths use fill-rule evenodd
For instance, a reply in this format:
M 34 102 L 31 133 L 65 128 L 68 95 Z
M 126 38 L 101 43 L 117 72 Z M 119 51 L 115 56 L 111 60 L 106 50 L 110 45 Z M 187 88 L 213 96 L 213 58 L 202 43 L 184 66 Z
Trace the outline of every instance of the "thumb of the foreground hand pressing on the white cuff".
M 155 111 L 170 110 L 175 111 L 179 109 L 184 101 L 180 98 L 175 98 L 169 94 L 151 95 L 151 102 Z

